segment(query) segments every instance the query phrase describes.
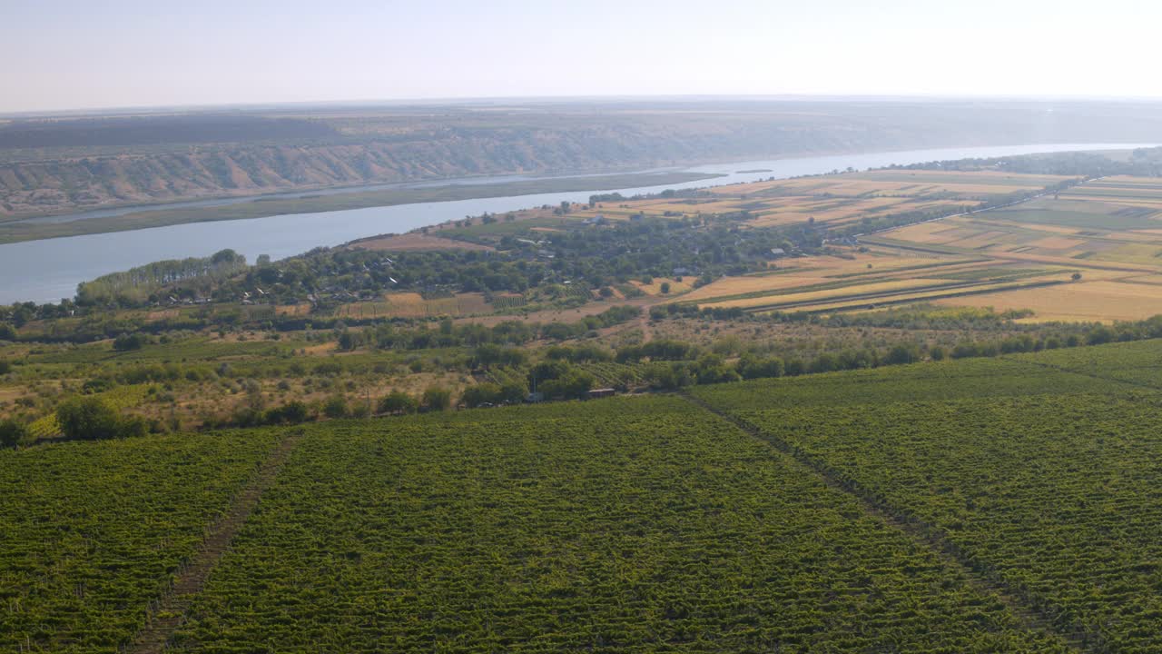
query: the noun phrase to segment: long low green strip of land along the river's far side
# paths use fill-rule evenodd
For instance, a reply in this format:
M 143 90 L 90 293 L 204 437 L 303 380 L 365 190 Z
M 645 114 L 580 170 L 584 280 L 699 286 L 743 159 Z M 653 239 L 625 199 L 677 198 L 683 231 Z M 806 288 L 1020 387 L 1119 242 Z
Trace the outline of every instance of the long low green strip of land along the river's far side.
M 532 196 L 540 193 L 567 193 L 603 191 L 607 189 L 659 186 L 666 184 L 689 184 L 725 177 L 716 172 L 637 172 L 598 175 L 583 177 L 523 179 L 498 184 L 449 184 L 411 189 L 385 189 L 375 191 L 352 191 L 350 193 L 327 193 L 293 198 L 257 198 L 249 201 L 217 206 L 162 207 L 142 209 L 121 215 L 86 218 L 72 221 L 23 221 L 0 223 L 0 243 L 19 243 L 43 239 L 62 239 L 87 234 L 106 234 L 170 227 L 191 222 L 216 222 L 223 220 L 246 220 L 324 213 L 335 211 L 389 207 L 417 202 L 446 202 L 454 200 Z

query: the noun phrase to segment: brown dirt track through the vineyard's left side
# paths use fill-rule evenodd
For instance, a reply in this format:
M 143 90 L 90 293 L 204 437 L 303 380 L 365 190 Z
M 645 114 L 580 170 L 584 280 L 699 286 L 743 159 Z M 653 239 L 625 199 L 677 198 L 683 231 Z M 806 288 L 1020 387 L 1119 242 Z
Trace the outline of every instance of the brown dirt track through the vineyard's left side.
M 201 547 L 189 562 L 174 576 L 173 585 L 150 606 L 148 623 L 132 642 L 120 648 L 125 654 L 162 654 L 170 638 L 186 619 L 194 597 L 201 592 L 218 560 L 230 548 L 230 542 L 250 518 L 263 492 L 274 483 L 279 470 L 303 438 L 303 429 L 294 429 L 271 450 L 251 482 L 238 493 L 234 504 L 209 529 Z

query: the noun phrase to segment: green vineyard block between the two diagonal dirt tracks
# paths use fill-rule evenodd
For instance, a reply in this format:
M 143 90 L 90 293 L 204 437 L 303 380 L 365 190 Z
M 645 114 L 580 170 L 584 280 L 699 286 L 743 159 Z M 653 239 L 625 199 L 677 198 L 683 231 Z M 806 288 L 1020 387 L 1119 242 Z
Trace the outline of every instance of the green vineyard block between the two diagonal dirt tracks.
M 676 398 L 317 427 L 189 652 L 1056 652 L 790 457 Z

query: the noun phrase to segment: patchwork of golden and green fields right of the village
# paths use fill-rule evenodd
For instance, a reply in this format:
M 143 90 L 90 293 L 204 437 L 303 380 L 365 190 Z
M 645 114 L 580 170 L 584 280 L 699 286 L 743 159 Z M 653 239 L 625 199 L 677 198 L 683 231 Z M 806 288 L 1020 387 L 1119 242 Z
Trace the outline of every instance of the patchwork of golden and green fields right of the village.
M 987 171 L 870 171 L 763 183 L 754 192 L 823 184 L 829 194 L 871 198 L 934 187 L 996 198 L 1005 184 L 1028 190 L 1055 182 Z M 866 207 L 853 211 L 860 220 L 868 216 Z M 865 234 L 859 243 L 858 250 L 839 248 L 842 256 L 775 261 L 774 270 L 719 279 L 673 301 L 811 313 L 923 301 L 1031 310 L 1032 321 L 1111 322 L 1162 313 L 1162 182 L 1156 179 L 1095 179 L 1013 206 Z

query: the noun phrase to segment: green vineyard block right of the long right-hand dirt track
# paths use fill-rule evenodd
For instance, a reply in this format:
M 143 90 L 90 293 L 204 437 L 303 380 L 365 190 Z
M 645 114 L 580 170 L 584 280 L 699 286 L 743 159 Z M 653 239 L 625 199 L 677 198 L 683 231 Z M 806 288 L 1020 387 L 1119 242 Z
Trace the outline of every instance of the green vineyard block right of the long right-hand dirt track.
M 1006 377 L 989 388 L 966 376 L 964 399 L 945 399 L 939 382 L 919 374 L 939 367 L 862 388 L 856 376 L 831 384 L 820 376 L 805 381 L 815 403 L 781 382 L 700 394 L 919 520 L 1059 633 L 1096 651 L 1159 652 L 1162 394 L 1104 377 L 1150 365 L 1156 374 L 1162 347 L 1068 354 L 995 362 Z M 1042 367 L 1050 362 L 1085 376 Z M 1021 365 L 1042 372 L 1024 378 L 1023 390 Z M 942 401 L 916 401 L 932 397 Z

